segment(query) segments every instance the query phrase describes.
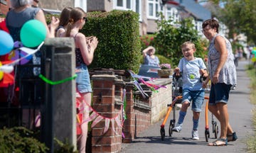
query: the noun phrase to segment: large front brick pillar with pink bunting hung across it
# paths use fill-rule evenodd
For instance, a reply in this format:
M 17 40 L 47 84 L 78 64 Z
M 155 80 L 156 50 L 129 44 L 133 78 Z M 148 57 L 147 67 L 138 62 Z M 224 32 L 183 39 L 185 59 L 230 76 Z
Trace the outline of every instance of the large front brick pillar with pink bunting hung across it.
M 105 118 L 114 118 L 120 111 L 119 108 L 115 108 L 114 105 L 114 90 L 117 77 L 114 76 L 114 72 L 95 72 L 92 75 L 93 84 L 93 103 L 92 108 Z M 117 152 L 121 150 L 122 145 L 122 128 L 118 128 L 117 124 L 114 124 L 114 130 L 112 129 L 112 123 L 107 132 L 104 132 L 105 119 L 97 123 L 92 128 L 92 152 Z

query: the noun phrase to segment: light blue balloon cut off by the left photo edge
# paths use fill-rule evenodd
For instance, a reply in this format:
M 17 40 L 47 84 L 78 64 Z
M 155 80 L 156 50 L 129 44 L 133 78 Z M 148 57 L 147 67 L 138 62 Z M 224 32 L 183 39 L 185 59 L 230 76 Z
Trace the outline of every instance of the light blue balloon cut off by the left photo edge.
M 14 39 L 9 33 L 0 30 L 0 55 L 6 55 L 11 52 L 14 47 Z

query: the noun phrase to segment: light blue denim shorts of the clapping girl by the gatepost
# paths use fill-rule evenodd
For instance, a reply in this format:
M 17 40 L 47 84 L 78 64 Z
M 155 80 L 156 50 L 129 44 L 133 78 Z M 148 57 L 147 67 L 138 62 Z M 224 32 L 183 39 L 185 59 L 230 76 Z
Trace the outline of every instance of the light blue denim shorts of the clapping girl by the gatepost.
M 80 66 L 75 67 L 75 74 L 78 75 L 78 77 L 76 77 L 75 79 L 77 91 L 81 94 L 92 92 L 92 86 L 90 84 L 90 74 L 88 72 L 87 66 L 85 64 L 80 64 Z

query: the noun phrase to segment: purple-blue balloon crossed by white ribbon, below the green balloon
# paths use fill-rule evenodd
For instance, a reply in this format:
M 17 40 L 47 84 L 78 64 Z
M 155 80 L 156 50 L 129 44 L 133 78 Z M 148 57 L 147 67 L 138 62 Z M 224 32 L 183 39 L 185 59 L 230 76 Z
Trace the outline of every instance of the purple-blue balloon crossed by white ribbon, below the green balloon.
M 9 54 L 9 60 L 16 61 L 18 59 L 21 59 L 21 57 L 25 57 L 26 55 L 28 55 L 27 52 L 23 52 L 23 50 L 13 50 Z M 18 64 L 26 64 L 31 60 L 31 58 L 32 55 L 22 59 L 20 62 L 18 62 Z

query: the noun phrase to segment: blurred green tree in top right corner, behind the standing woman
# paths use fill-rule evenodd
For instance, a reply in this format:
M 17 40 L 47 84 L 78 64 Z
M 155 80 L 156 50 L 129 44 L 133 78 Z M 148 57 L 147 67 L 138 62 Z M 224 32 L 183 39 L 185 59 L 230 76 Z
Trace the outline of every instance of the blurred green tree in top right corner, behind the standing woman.
M 217 7 L 213 15 L 228 26 L 230 38 L 233 38 L 234 34 L 245 33 L 247 41 L 250 44 L 255 44 L 255 0 L 208 0 L 208 3 L 215 6 L 220 3 L 223 4 L 224 7 Z

